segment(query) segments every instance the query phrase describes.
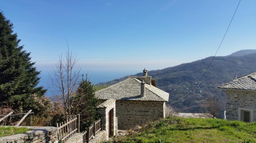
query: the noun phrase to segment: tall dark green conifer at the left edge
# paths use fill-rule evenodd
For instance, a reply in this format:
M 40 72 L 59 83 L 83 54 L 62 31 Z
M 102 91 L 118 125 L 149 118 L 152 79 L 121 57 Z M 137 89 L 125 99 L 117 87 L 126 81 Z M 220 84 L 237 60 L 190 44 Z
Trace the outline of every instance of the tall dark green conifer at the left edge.
M 46 90 L 37 87 L 40 72 L 19 42 L 13 33 L 13 23 L 0 12 L 0 102 L 9 102 L 14 109 L 28 110 L 30 96 L 41 97 Z

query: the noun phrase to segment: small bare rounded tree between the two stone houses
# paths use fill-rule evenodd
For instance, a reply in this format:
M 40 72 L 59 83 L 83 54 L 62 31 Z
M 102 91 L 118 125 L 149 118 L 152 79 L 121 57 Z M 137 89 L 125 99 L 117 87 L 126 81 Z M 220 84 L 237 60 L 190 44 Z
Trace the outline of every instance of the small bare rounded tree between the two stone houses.
M 221 106 L 218 99 L 214 98 L 206 99 L 205 103 L 201 106 L 201 111 L 211 118 L 215 118 L 218 115 L 220 109 Z

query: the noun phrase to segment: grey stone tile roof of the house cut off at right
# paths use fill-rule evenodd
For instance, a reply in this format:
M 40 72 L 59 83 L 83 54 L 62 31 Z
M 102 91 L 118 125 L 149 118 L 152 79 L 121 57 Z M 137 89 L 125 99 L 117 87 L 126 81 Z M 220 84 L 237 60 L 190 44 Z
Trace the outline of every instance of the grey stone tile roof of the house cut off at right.
M 256 91 L 256 72 L 237 78 L 237 80 L 220 85 L 217 88 Z

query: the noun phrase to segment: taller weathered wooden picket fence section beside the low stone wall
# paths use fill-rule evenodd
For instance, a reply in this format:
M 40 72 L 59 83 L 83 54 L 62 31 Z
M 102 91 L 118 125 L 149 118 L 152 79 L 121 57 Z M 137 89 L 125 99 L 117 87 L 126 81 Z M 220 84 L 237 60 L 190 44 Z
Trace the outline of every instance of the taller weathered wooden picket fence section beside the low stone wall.
M 78 120 L 78 121 L 77 121 Z M 80 132 L 80 116 L 71 116 L 67 121 L 57 123 L 58 138 L 67 141 L 73 134 Z

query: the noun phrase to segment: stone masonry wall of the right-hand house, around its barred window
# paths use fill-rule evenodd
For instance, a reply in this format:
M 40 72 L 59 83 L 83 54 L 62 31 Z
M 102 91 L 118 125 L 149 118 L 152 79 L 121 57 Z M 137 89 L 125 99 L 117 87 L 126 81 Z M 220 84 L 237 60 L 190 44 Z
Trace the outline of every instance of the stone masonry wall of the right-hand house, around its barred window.
M 242 90 L 226 90 L 226 96 L 227 120 L 238 120 L 238 107 L 241 107 L 253 109 L 253 121 L 256 121 L 256 92 Z

